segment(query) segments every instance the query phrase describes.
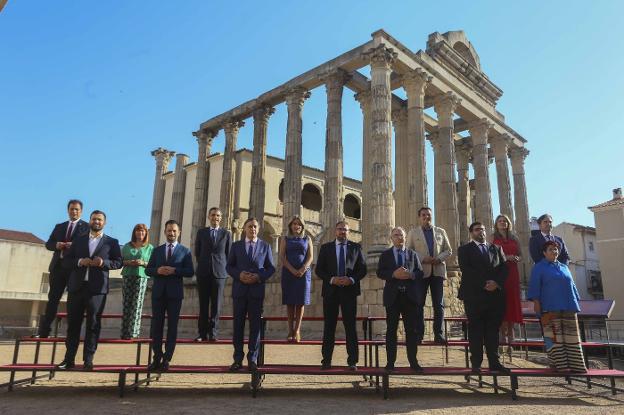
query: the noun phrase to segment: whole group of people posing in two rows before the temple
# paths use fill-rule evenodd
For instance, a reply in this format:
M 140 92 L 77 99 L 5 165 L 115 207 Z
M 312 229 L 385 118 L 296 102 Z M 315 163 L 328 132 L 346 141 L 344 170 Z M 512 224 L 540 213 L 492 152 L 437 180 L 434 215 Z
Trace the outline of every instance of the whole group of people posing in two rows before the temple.
M 211 208 L 208 212 L 209 226 L 200 229 L 195 238 L 195 270 L 191 250 L 179 243 L 180 225 L 174 220 L 165 223 L 164 244 L 153 248 L 149 244 L 147 226 L 138 224 L 132 231 L 130 242 L 120 249 L 116 239 L 104 234 L 104 212 L 94 210 L 87 223 L 80 219 L 82 202 L 79 200 L 70 200 L 67 212 L 69 220 L 56 225 L 46 243 L 46 247 L 54 254 L 50 263 L 49 301 L 37 334 L 37 337 L 49 336 L 58 303 L 67 288 L 66 353 L 58 365 L 60 369 L 75 366 L 85 315 L 84 368 L 89 370 L 93 367 L 101 315 L 109 289 L 108 273 L 122 266 L 123 339 L 138 336 L 146 281 L 148 277 L 153 280 L 150 337 L 154 358 L 150 370 L 165 371 L 169 367 L 177 342 L 177 326 L 184 297 L 183 279 L 193 275 L 197 276 L 200 301 L 198 336 L 195 340 L 218 339 L 224 286 L 230 276 L 233 280 L 234 345 L 230 370 L 239 371 L 243 368 L 247 321 L 247 366 L 251 371 L 257 368 L 265 285 L 276 270 L 271 246 L 258 238 L 260 224 L 257 219 L 248 218 L 243 225 L 244 237 L 233 242 L 231 233 L 220 227 L 220 209 Z M 453 250 L 445 230 L 433 225 L 430 208 L 421 208 L 418 216 L 419 226 L 411 229 L 409 234 L 401 227 L 392 230 L 392 246 L 381 252 L 376 272 L 385 281 L 386 369 L 390 371 L 396 362 L 397 330 L 401 319 L 405 328 L 409 365 L 414 371 L 422 371 L 417 359 L 417 347 L 423 340 L 423 309 L 428 292 L 431 293 L 434 311 L 434 342 L 446 343 L 442 328 L 443 287 L 447 277 L 446 261 Z M 557 322 L 557 327 L 566 327 L 565 334 L 569 335 L 569 327 L 574 328 L 574 324 L 570 326 L 570 318 L 574 317 L 575 321 L 575 313 L 579 309 L 578 292 L 573 280 L 568 277 L 569 271 L 567 274 L 565 272 L 569 256 L 563 240 L 551 234 L 552 217 L 543 215 L 539 223 L 541 232 L 531 238 L 529 246 L 533 260 L 539 264 L 532 276 L 530 299 L 534 301 L 536 311 L 547 315 L 549 322 Z M 335 224 L 335 239 L 320 247 L 314 269 L 317 277 L 323 281 L 323 369 L 332 366 L 336 326 L 341 314 L 346 335 L 347 365 L 351 370 L 357 370 L 357 297 L 361 293 L 360 281 L 367 275 L 367 267 L 362 248 L 349 240 L 349 231 L 346 221 Z M 472 370 L 477 373 L 480 371 L 485 346 L 489 370 L 507 372 L 499 361 L 499 330 L 507 322 L 511 324 L 511 330 L 509 327 L 504 328 L 503 333 L 513 333 L 513 323 L 522 318 L 519 309 L 518 240 L 511 232 L 511 221 L 505 215 L 496 218 L 492 238 L 487 237 L 481 222 L 472 223 L 469 231 L 471 241 L 459 247 L 457 257 L 462 272 L 458 297 L 464 301 L 468 318 Z M 553 257 L 551 251 L 555 250 L 556 256 Z M 304 306 L 310 304 L 313 259 L 313 244 L 306 235 L 302 218 L 295 216 L 288 223 L 287 236 L 280 241 L 279 257 L 282 264 L 282 298 L 288 310 L 288 340 L 298 342 L 301 338 Z M 549 264 L 556 264 L 557 272 L 551 272 Z M 561 278 L 556 280 L 561 275 L 565 277 L 563 288 L 559 281 Z M 558 281 L 559 285 L 550 282 L 544 288 L 543 281 L 551 280 Z M 564 305 L 551 298 L 555 296 L 553 286 L 560 291 L 567 289 L 570 298 Z M 552 303 L 556 303 L 560 309 L 547 309 Z M 555 311 L 560 314 L 553 314 Z M 566 314 L 561 314 L 563 312 Z M 167 337 L 163 349 L 165 319 Z M 557 329 L 553 330 L 552 336 L 555 336 Z M 558 330 L 561 332 L 564 329 Z M 549 344 L 551 349 L 561 353 L 553 341 Z M 578 357 L 572 357 L 575 356 Z

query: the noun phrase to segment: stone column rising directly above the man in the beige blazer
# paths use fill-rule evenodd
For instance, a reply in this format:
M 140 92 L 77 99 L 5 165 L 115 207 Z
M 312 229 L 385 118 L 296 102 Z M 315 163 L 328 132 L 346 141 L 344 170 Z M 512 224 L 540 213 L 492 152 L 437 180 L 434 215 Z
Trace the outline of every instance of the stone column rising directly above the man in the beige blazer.
M 425 89 L 432 77 L 415 69 L 404 77 L 407 93 L 407 159 L 408 220 L 405 225 L 418 224 L 418 209 L 428 205 L 427 160 L 425 157 Z M 398 177 L 397 177 L 398 180 Z

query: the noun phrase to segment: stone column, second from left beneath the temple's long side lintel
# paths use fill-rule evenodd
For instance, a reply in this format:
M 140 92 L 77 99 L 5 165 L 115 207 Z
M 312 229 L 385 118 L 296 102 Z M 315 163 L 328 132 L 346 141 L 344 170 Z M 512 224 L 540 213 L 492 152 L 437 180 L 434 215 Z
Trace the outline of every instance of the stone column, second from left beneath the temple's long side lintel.
M 230 120 L 223 126 L 225 131 L 225 150 L 223 151 L 223 173 L 221 176 L 221 194 L 219 205 L 223 214 L 222 225 L 226 229 L 232 229 L 234 220 L 234 152 L 238 130 L 245 125 L 243 121 Z

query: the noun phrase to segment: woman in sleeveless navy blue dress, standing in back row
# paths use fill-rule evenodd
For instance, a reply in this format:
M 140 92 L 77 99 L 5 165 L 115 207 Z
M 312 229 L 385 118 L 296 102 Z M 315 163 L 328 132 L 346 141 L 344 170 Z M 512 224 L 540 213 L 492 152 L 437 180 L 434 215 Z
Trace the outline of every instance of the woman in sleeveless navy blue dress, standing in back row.
M 282 238 L 279 247 L 282 263 L 282 304 L 288 308 L 288 341 L 301 340 L 301 320 L 304 307 L 310 304 L 313 247 L 312 240 L 305 233 L 305 222 L 293 216 L 288 222 L 288 235 Z

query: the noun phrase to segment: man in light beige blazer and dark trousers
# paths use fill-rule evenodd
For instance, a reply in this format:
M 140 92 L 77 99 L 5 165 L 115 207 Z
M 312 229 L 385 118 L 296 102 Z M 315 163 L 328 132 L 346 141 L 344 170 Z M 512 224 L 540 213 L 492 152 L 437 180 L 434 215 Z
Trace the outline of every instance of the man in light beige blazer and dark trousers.
M 446 338 L 442 332 L 444 321 L 444 280 L 446 279 L 445 261 L 453 250 L 446 236 L 446 231 L 434 226 L 431 220 L 431 208 L 422 207 L 418 210 L 420 226 L 413 228 L 407 237 L 407 247 L 418 253 L 423 266 L 422 279 L 423 301 L 417 313 L 416 334 L 419 342 L 425 334 L 424 304 L 427 291 L 431 290 L 431 304 L 433 305 L 433 335 L 438 344 L 445 344 Z

